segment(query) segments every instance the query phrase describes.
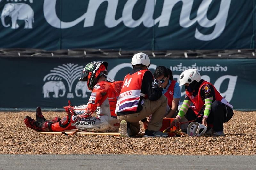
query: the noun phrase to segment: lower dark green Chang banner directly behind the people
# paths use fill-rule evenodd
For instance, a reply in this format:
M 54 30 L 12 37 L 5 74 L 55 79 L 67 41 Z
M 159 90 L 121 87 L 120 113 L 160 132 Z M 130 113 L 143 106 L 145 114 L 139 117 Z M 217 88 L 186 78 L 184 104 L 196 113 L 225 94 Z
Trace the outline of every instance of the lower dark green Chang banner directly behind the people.
M 88 102 L 90 91 L 78 78 L 84 66 L 94 60 L 108 62 L 108 76 L 123 80 L 132 70 L 131 59 L 103 58 L 0 58 L 1 108 L 61 108 Z M 170 68 L 174 78 L 186 69 L 196 68 L 204 80 L 215 85 L 235 109 L 256 110 L 252 102 L 256 84 L 256 60 L 250 59 L 153 59 L 150 70 L 157 66 Z M 249 91 L 248 91 L 249 90 Z M 184 99 L 184 87 L 181 89 Z

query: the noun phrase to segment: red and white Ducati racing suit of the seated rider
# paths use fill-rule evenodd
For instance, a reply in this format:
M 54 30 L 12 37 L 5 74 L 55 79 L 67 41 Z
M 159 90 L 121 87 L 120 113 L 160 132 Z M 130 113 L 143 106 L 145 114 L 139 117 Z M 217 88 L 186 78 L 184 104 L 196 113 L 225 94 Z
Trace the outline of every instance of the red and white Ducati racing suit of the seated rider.
M 53 123 L 51 130 L 79 129 L 91 132 L 117 132 L 120 121 L 115 115 L 117 98 L 123 81 L 101 81 L 92 90 L 87 105 L 74 107 L 76 115 L 67 115 L 65 120 Z M 96 111 L 96 117 L 90 117 Z M 89 116 L 89 117 L 88 117 Z

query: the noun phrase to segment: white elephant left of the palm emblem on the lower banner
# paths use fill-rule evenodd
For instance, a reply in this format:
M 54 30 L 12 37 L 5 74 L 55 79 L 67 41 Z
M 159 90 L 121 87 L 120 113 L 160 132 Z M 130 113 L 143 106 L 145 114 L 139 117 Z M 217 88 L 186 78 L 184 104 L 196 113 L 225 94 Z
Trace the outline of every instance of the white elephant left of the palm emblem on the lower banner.
M 44 98 L 49 98 L 49 92 L 54 92 L 53 97 L 59 97 L 59 91 L 62 90 L 60 97 L 63 97 L 66 93 L 65 85 L 62 81 L 48 81 L 43 85 Z

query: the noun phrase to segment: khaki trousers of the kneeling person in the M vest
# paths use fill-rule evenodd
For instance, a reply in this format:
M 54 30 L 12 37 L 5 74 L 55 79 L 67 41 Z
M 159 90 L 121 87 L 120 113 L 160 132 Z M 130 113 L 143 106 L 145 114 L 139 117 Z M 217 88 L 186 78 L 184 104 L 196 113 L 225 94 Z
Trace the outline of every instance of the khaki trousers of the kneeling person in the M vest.
M 129 122 L 129 135 L 137 135 L 140 131 L 140 123 L 142 119 L 152 114 L 151 121 L 148 123 L 148 130 L 158 131 L 162 127 L 163 118 L 166 112 L 167 98 L 162 95 L 158 100 L 144 100 L 142 110 L 138 113 L 118 116 L 118 119 Z

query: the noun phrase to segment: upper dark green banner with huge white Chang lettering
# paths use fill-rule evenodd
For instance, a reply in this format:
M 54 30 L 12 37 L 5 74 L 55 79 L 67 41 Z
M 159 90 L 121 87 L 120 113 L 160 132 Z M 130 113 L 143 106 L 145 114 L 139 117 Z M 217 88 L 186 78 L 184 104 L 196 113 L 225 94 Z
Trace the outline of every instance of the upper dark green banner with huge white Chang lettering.
M 0 48 L 255 48 L 255 0 L 0 0 Z

